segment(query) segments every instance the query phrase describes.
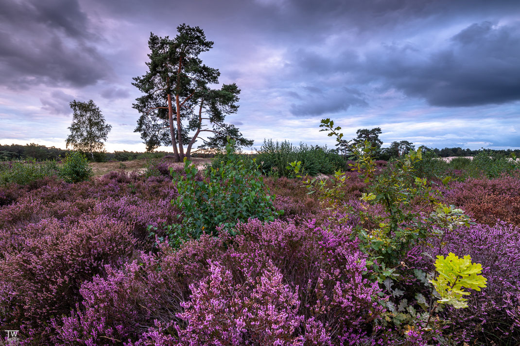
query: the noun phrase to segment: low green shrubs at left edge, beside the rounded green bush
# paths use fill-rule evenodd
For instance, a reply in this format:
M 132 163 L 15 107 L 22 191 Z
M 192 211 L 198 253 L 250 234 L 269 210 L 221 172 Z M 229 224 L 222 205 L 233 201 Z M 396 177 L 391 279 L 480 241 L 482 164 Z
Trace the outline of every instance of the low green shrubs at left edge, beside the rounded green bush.
M 56 161 L 0 163 L 0 185 L 16 183 L 27 185 L 36 180 L 53 177 L 58 174 Z

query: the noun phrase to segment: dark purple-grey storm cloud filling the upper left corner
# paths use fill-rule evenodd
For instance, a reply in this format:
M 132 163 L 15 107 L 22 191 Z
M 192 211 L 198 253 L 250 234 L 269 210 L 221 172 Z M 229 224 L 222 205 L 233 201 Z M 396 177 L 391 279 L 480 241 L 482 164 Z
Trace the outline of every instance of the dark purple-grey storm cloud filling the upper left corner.
M 45 84 L 83 87 L 111 69 L 76 1 L 0 4 L 0 75 L 11 88 Z

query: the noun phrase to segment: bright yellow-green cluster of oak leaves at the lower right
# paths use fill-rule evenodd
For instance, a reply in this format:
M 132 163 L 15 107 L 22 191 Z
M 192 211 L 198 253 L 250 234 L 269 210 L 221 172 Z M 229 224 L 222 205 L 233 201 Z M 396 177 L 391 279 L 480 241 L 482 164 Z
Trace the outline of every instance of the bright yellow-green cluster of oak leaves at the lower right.
M 486 287 L 486 278 L 478 275 L 482 265 L 472 263 L 470 255 L 459 258 L 450 252 L 446 258 L 437 256 L 435 269 L 439 275 L 431 283 L 440 296 L 438 303 L 453 305 L 455 309 L 467 308 L 463 296 L 469 296 L 470 292 L 464 288 L 480 291 Z

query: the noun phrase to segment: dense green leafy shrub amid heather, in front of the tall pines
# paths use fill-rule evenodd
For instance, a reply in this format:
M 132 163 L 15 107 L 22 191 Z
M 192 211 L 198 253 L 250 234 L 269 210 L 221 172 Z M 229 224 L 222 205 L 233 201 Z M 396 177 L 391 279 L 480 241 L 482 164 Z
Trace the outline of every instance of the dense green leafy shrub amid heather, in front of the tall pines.
M 217 168 L 210 167 L 205 181 L 197 181 L 198 170 L 187 159 L 186 177 L 174 177 L 179 196 L 172 203 L 183 211 L 180 227 L 194 238 L 203 232 L 233 233 L 237 222 L 249 218 L 272 221 L 281 214 L 272 205 L 274 196 L 266 192 L 256 162 L 236 154 L 235 144 L 230 140 L 226 159 Z

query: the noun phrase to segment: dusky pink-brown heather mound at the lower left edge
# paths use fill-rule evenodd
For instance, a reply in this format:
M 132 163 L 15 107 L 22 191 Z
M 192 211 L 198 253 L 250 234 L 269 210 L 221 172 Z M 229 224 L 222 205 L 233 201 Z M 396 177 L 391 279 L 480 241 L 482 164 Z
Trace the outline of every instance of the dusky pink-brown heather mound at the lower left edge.
M 18 236 L 0 260 L 1 321 L 41 343 L 52 332 L 51 318 L 79 301 L 82 282 L 106 264 L 122 264 L 134 247 L 124 224 L 106 217 L 76 224 L 46 219 Z

